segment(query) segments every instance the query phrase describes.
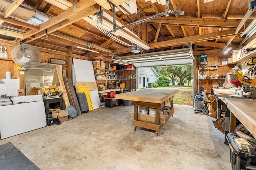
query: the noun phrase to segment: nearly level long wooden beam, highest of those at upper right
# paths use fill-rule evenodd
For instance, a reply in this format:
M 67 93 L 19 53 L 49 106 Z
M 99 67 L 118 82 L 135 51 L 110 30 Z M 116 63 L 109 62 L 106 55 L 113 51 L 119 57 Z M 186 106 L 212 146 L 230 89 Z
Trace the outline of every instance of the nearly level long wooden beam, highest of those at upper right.
M 146 18 L 146 17 L 145 17 Z M 252 20 L 248 20 L 245 24 L 248 26 Z M 217 18 L 174 18 L 174 17 L 158 17 L 149 20 L 148 23 L 162 23 L 162 24 L 181 24 L 192 26 L 207 26 L 207 27 L 226 27 L 236 28 L 240 20 L 237 19 L 217 19 Z

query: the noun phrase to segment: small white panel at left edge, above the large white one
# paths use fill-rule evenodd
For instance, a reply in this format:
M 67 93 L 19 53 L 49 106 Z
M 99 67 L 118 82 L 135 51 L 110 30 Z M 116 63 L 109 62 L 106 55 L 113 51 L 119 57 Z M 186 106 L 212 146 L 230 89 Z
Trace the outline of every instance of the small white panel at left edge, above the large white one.
M 18 96 L 20 79 L 2 79 L 0 82 L 0 94 L 6 96 Z

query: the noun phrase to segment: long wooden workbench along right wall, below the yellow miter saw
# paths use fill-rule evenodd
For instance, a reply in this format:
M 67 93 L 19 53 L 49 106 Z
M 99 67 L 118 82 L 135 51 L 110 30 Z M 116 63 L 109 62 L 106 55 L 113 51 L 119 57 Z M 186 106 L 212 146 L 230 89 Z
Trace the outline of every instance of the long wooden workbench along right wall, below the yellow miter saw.
M 229 131 L 234 132 L 236 118 L 256 138 L 256 100 L 226 98 L 230 110 Z

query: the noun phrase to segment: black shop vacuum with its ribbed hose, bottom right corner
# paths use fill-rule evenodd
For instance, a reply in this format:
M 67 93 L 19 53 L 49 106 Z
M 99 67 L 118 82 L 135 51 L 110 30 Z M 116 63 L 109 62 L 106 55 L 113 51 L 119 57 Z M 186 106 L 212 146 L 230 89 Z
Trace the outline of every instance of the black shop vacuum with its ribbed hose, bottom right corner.
M 256 170 L 256 139 L 250 132 L 238 130 L 226 136 L 230 146 L 232 170 Z

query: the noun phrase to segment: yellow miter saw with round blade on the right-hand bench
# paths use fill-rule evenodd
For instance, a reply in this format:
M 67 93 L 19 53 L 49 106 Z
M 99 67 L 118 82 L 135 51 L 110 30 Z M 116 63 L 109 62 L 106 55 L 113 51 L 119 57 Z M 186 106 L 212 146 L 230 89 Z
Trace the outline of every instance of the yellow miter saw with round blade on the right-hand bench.
M 237 70 L 235 70 L 235 74 L 227 75 L 225 81 L 230 87 L 242 87 L 242 91 L 246 93 L 243 95 L 242 91 L 236 89 L 236 93 L 241 97 L 248 97 L 250 99 L 254 99 L 256 96 L 256 81 L 250 79 L 246 75 L 242 75 Z

